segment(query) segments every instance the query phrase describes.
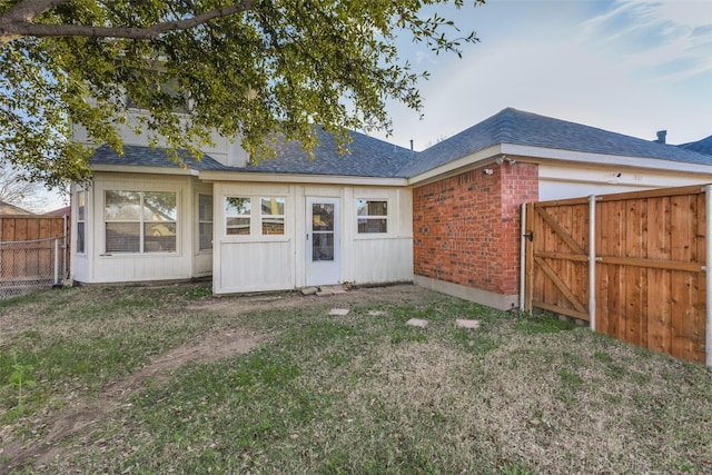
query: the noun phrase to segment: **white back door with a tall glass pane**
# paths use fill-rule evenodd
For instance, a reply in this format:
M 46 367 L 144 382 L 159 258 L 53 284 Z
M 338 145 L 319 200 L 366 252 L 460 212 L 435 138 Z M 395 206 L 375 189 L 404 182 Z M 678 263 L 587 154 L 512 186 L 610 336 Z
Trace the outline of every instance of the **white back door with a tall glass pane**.
M 338 284 L 342 280 L 342 256 L 338 198 L 307 197 L 308 286 Z

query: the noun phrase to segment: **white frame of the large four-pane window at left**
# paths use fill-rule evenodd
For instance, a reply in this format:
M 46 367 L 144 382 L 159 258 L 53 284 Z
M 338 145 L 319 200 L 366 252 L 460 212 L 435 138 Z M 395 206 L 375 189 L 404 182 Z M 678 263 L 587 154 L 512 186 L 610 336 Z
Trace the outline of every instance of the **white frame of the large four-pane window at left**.
M 138 201 L 138 217 L 136 219 L 108 219 L 107 217 L 107 196 L 110 192 L 126 192 L 126 194 L 138 194 L 139 196 L 139 201 Z M 167 195 L 172 195 L 174 197 L 174 214 L 175 214 L 175 219 L 161 219 L 161 220 L 151 220 L 151 219 L 147 219 L 144 215 L 144 211 L 146 209 L 146 195 L 150 195 L 150 194 L 167 194 Z M 167 255 L 167 254 L 171 254 L 171 255 L 177 255 L 178 254 L 178 249 L 179 249 L 179 239 L 178 239 L 178 235 L 179 235 L 179 217 L 180 217 L 180 208 L 179 208 L 179 194 L 178 191 L 175 190 L 137 190 L 137 189 L 105 189 L 103 190 L 103 256 L 126 256 L 126 255 L 132 255 L 132 256 L 156 256 L 156 255 Z M 138 250 L 109 250 L 108 249 L 108 236 L 109 236 L 109 225 L 110 224 L 138 224 Z M 147 243 L 147 236 L 146 236 L 146 228 L 147 225 L 158 225 L 158 224 L 164 224 L 164 225 L 168 225 L 168 228 L 170 228 L 170 225 L 174 226 L 174 240 L 172 240 L 172 249 L 169 250 L 146 250 L 147 248 L 147 244 L 152 244 L 151 239 L 148 239 Z

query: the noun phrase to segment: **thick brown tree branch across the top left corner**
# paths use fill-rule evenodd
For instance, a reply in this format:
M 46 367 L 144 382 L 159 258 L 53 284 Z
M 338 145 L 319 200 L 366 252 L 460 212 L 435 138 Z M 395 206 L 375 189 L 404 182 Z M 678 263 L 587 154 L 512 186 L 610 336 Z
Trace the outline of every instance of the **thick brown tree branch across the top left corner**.
M 168 31 L 187 30 L 216 18 L 251 10 L 256 0 L 243 0 L 238 3 L 217 8 L 184 20 L 164 21 L 145 28 L 134 27 L 93 27 L 90 24 L 42 24 L 32 23 L 32 18 L 67 0 L 26 0 L 16 4 L 0 17 L 0 47 L 27 37 L 87 37 L 87 38 L 128 38 L 150 40 Z M 33 6 L 33 7 L 32 7 Z M 21 8 L 18 8 L 21 7 Z M 17 11 L 16 11 L 17 8 Z M 13 14 L 11 14 L 13 13 Z

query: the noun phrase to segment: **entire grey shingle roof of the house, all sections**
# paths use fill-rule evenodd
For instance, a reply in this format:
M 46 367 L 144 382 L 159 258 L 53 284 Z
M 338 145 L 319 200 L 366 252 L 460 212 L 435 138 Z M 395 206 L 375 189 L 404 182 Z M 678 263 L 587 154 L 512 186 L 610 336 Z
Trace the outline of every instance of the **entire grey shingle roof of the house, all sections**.
M 643 140 L 512 108 L 421 152 L 364 133 L 349 133 L 349 154 L 344 156 L 338 155 L 334 136 L 319 129 L 319 145 L 314 150 L 313 160 L 296 141 L 281 141 L 277 146 L 276 158 L 243 168 L 226 167 L 207 155 L 198 162 L 187 151 L 182 152 L 181 158 L 194 170 L 411 178 L 478 150 L 510 144 L 712 166 L 712 156 L 684 146 Z M 700 142 L 703 141 L 711 144 L 712 137 Z M 101 146 L 97 148 L 92 164 L 179 167 L 162 149 L 125 146 L 123 150 L 125 155 L 119 156 L 110 147 Z

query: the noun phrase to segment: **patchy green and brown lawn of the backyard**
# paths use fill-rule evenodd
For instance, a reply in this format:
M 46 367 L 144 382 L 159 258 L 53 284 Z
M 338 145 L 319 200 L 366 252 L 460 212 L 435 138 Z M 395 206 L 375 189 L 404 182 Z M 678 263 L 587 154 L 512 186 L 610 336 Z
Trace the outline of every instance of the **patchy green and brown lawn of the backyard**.
M 250 297 L 212 299 L 205 285 L 184 285 L 3 300 L 0 318 L 10 330 L 0 339 L 0 380 L 8 380 L 16 352 L 37 383 L 21 415 L 11 410 L 12 387 L 0 390 L 3 444 L 47 437 L 78 394 L 102 397 L 107 385 L 205 335 L 240 328 L 263 336 L 248 354 L 147 379 L 62 441 L 59 458 L 29 451 L 33 458 L 13 469 L 712 471 L 712 373 L 704 367 L 547 316 L 407 286 L 339 298 L 284 295 L 274 305 L 248 305 Z M 350 313 L 328 316 L 333 307 Z M 428 327 L 406 326 L 411 318 Z M 456 318 L 478 319 L 479 328 L 457 329 Z M 17 454 L 6 445 L 10 464 Z

